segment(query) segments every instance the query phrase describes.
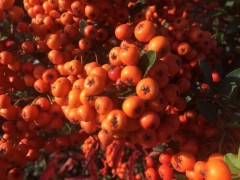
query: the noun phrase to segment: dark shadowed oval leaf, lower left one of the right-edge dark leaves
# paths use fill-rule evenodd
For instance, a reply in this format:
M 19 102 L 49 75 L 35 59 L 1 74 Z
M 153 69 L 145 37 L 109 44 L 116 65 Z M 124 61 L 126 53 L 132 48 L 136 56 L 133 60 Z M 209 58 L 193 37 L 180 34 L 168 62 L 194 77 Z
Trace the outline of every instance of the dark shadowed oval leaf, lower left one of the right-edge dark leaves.
M 217 121 L 217 107 L 205 99 L 196 101 L 196 108 L 209 122 Z

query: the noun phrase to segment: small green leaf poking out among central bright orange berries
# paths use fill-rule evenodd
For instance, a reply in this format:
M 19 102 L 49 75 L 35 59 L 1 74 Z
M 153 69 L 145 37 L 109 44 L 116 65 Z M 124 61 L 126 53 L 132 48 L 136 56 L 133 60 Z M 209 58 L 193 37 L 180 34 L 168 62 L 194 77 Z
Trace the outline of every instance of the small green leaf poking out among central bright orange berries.
M 137 66 L 141 69 L 143 73 L 143 77 L 147 75 L 148 71 L 151 69 L 151 67 L 155 63 L 156 58 L 157 58 L 157 54 L 155 51 L 152 51 L 152 50 L 145 52 L 141 56 Z

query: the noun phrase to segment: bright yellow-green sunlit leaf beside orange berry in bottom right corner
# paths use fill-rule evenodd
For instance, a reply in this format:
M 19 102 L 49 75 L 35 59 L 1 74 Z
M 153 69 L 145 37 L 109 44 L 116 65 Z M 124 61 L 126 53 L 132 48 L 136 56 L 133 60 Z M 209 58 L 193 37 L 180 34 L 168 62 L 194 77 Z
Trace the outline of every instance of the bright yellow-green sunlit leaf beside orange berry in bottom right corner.
M 232 174 L 240 174 L 240 163 L 238 162 L 238 156 L 232 153 L 228 153 L 224 156 L 224 162 L 229 166 Z

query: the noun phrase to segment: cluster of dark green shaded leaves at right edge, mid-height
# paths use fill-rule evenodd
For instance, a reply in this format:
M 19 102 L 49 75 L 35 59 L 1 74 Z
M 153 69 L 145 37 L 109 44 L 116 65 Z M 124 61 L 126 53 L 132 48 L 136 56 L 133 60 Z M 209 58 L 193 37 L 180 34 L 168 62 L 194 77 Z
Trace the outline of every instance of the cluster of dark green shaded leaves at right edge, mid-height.
M 214 84 L 209 66 L 204 62 L 199 62 L 203 75 L 210 91 L 206 98 L 201 98 L 196 102 L 196 108 L 203 116 L 216 122 L 218 115 L 226 124 L 232 127 L 240 125 L 240 68 L 229 72 L 219 84 Z

